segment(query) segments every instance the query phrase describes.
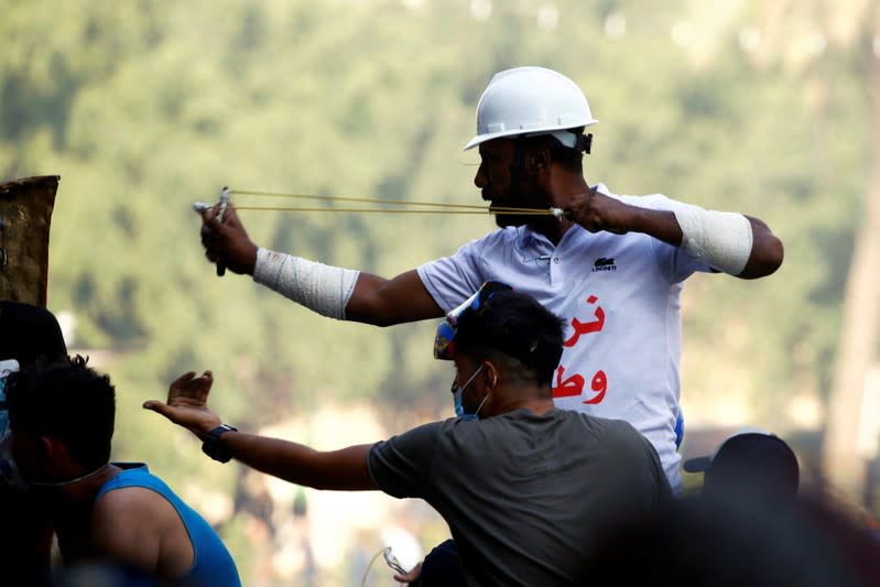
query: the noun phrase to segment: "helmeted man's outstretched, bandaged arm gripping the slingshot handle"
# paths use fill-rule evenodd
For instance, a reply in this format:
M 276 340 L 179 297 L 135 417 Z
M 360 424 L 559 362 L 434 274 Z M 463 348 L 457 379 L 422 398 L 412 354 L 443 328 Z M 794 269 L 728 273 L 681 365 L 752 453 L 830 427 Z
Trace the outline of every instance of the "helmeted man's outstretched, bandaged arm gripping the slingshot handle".
M 205 256 L 324 316 L 390 326 L 443 316 L 415 270 L 385 279 L 261 249 L 233 207 L 202 213 Z

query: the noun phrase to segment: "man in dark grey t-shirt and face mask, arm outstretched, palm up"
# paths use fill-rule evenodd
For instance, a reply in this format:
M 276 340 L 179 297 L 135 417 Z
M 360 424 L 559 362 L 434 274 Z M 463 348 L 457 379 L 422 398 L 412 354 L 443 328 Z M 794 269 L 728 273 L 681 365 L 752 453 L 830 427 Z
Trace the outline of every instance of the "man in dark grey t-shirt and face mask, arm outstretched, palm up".
M 630 424 L 558 410 L 551 378 L 559 318 L 489 282 L 439 325 L 435 357 L 455 362 L 458 417 L 336 452 L 240 433 L 207 407 L 210 372 L 175 381 L 154 410 L 269 475 L 319 489 L 422 498 L 449 524 L 469 585 L 583 583 L 609 524 L 671 494 L 652 445 Z

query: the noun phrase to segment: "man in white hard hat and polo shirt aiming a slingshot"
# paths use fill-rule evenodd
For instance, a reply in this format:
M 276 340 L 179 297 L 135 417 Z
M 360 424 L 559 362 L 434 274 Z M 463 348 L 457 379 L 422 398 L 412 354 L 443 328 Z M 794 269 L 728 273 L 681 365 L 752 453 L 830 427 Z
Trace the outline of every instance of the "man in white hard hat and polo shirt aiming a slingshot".
M 568 326 L 554 374 L 556 405 L 629 421 L 654 445 L 681 489 L 678 295 L 696 271 L 762 278 L 782 263 L 764 222 L 663 195 L 618 196 L 583 175 L 597 122 L 562 74 L 496 74 L 477 108 L 481 163 L 474 183 L 499 230 L 391 280 L 258 248 L 235 210 L 203 213 L 207 258 L 325 316 L 391 325 L 443 316 L 486 281 L 524 292 Z M 551 215 L 548 209 L 564 210 Z

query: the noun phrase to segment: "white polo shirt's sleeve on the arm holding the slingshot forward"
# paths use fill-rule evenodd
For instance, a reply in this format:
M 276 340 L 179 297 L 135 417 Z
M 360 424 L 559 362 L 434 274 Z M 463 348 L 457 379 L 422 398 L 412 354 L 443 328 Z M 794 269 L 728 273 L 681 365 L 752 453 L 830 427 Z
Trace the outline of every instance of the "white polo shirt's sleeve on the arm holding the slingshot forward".
M 449 312 L 474 295 L 485 281 L 480 268 L 484 240 L 471 240 L 449 257 L 444 257 L 416 269 L 434 302 Z

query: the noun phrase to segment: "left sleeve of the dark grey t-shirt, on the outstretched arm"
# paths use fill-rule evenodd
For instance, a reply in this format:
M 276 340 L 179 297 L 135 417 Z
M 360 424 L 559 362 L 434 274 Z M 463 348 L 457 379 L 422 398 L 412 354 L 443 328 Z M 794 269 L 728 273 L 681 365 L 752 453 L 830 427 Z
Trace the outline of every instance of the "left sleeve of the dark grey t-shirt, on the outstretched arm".
M 424 424 L 376 443 L 367 468 L 379 489 L 395 498 L 424 498 L 443 422 Z

